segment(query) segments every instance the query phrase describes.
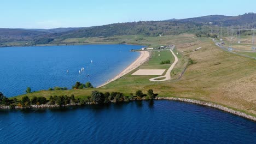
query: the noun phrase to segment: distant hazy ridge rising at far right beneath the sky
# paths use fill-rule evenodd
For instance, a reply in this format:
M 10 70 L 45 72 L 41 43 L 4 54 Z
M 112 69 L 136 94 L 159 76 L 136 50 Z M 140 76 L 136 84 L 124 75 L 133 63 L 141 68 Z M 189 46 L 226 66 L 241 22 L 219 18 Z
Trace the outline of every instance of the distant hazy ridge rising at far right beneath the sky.
M 193 17 L 189 19 L 179 19 L 179 20 L 166 20 L 166 21 L 179 21 L 179 22 L 197 22 L 197 23 L 209 23 L 212 22 L 213 25 L 220 26 L 249 26 L 255 25 L 256 14 L 248 13 L 238 16 L 225 16 L 225 15 L 209 15 L 201 17 Z

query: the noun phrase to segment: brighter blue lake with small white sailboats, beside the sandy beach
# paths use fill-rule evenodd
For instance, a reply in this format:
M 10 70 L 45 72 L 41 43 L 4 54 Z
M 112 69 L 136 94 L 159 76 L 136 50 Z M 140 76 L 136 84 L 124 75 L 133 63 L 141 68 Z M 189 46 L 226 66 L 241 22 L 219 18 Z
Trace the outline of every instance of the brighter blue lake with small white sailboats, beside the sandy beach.
M 112 79 L 139 56 L 136 45 L 3 47 L 0 49 L 0 92 L 5 96 L 50 87 L 71 88 L 76 81 L 94 86 Z M 92 60 L 92 63 L 91 63 Z M 85 69 L 79 74 L 81 68 Z M 67 70 L 69 71 L 67 73 Z M 86 75 L 90 75 L 87 77 Z

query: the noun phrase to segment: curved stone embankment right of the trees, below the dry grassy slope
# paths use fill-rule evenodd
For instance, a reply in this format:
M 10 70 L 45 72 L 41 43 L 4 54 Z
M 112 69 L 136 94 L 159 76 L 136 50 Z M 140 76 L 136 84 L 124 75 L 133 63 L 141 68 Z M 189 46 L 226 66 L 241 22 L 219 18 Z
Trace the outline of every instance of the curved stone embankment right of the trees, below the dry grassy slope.
M 199 105 L 211 106 L 211 107 L 214 107 L 216 109 L 223 110 L 223 111 L 232 113 L 232 114 L 237 115 L 237 116 L 245 117 L 245 118 L 251 119 L 252 121 L 256 122 L 256 117 L 247 115 L 246 113 L 243 113 L 243 112 L 240 112 L 240 111 L 235 111 L 235 110 L 229 109 L 228 107 L 225 107 L 225 106 L 222 106 L 222 105 L 217 105 L 217 104 L 209 103 L 209 102 L 206 102 L 206 101 L 193 100 L 193 99 L 184 99 L 184 98 L 173 98 L 173 97 L 159 97 L 159 98 L 155 98 L 155 99 L 156 100 L 176 100 L 176 101 L 184 101 L 184 102 L 187 102 L 187 103 L 194 103 L 194 104 L 199 104 Z

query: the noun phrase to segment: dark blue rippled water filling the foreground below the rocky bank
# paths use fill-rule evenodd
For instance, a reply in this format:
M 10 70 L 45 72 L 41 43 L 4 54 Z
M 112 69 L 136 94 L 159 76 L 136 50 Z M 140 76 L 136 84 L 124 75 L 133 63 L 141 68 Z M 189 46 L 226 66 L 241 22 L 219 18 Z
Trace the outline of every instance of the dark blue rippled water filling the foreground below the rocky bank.
M 256 123 L 167 100 L 1 110 L 0 143 L 256 143 Z

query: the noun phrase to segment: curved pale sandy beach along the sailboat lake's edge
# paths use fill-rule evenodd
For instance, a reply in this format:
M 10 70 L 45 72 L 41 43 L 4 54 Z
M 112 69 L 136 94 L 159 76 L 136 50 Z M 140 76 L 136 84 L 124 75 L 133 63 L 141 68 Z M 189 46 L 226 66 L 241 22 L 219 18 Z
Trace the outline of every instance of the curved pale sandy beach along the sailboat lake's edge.
M 141 55 L 136 59 L 135 62 L 133 62 L 131 65 L 129 65 L 129 67 L 127 67 L 125 70 L 123 70 L 120 74 L 118 74 L 117 76 L 115 76 L 112 80 L 109 80 L 108 82 L 104 83 L 99 87 L 105 86 L 107 85 L 109 82 L 115 81 L 117 79 L 119 79 L 121 76 L 124 76 L 128 73 L 130 73 L 132 70 L 138 68 L 140 65 L 142 65 L 143 63 L 145 63 L 146 61 L 148 61 L 149 58 L 149 52 L 148 51 L 140 51 Z

